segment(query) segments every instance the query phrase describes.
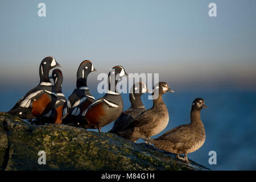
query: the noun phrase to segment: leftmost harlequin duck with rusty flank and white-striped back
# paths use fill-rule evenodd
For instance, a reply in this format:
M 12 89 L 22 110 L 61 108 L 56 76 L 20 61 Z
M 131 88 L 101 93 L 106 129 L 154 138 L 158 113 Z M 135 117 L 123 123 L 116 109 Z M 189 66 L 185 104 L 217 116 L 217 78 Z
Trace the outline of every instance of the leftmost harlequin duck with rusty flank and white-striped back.
M 60 65 L 53 57 L 44 58 L 39 67 L 39 85 L 27 92 L 7 113 L 22 119 L 35 119 L 48 113 L 57 100 L 56 92 L 49 80 L 49 71 L 55 67 Z

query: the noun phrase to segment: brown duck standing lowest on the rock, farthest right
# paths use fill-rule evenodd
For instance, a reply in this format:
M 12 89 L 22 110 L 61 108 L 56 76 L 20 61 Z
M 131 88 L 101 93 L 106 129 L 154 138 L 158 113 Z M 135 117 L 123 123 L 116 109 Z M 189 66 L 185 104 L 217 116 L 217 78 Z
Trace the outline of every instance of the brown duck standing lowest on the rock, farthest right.
M 198 150 L 205 141 L 204 125 L 200 119 L 200 111 L 207 108 L 203 98 L 196 98 L 191 109 L 191 123 L 181 125 L 167 131 L 156 139 L 146 139 L 162 150 L 177 154 L 177 158 L 188 162 L 188 153 Z M 185 154 L 181 158 L 179 154 Z

